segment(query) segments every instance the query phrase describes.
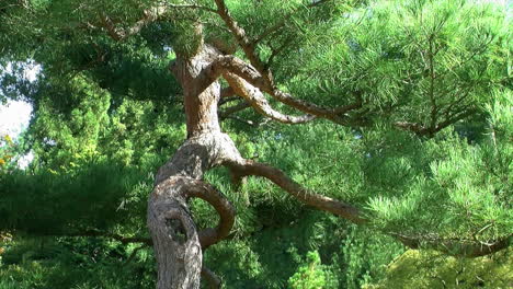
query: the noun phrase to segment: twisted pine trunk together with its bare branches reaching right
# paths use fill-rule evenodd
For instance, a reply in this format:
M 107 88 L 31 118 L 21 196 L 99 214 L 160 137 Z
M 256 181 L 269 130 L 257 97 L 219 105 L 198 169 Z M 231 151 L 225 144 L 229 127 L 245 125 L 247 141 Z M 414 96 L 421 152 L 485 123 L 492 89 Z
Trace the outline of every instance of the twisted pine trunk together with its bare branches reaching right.
M 183 89 L 187 140 L 159 169 L 148 201 L 148 227 L 158 265 L 158 289 L 198 288 L 202 270 L 205 279 L 218 286 L 218 279 L 208 269 L 202 268 L 202 250 L 228 235 L 235 210 L 221 193 L 202 181 L 205 172 L 217 165 L 228 166 L 235 182 L 247 175 L 263 176 L 306 205 L 354 222 L 364 222 L 356 208 L 307 192 L 280 170 L 252 163 L 240 155 L 228 135 L 220 131 L 217 118 L 221 95 L 217 80 L 219 76 L 225 76 L 233 91 L 247 96 L 252 106 L 261 107 L 274 118 L 293 123 L 303 119 L 272 111 L 263 95 L 244 94 L 243 88 L 237 85 L 243 82 L 224 70 L 223 59 L 215 48 L 202 44 L 195 56 L 179 55 L 170 67 Z M 187 208 L 191 197 L 202 198 L 216 209 L 220 217 L 217 228 L 198 231 Z

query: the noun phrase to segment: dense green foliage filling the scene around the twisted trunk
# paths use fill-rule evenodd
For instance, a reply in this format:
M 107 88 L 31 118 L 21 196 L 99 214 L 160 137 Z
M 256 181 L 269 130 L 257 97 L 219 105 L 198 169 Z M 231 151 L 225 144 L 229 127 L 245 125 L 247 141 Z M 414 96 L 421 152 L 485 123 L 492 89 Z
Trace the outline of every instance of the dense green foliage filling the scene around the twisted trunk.
M 0 71 L 0 101 L 25 100 L 34 113 L 18 140 L 0 136 L 0 289 L 151 288 L 152 250 L 109 236 L 148 236 L 153 174 L 185 138 L 181 89 L 168 65 L 174 50 L 197 45 L 187 34 L 195 21 L 207 42 L 243 58 L 241 49 L 203 10 L 172 10 L 115 42 L 99 15 L 129 26 L 155 1 L 4 2 L 0 68 L 15 65 Z M 213 170 L 207 181 L 237 209 L 229 240 L 205 253 L 226 288 L 435 288 L 438 279 L 454 284 L 448 271 L 461 264 L 472 282 L 485 270 L 511 279 L 511 250 L 474 263 L 407 251 L 387 268 L 404 247 L 386 235 L 483 243 L 511 236 L 512 31 L 502 8 L 474 0 L 327 1 L 312 9 L 301 0 L 226 2 L 250 38 L 293 12 L 256 46 L 283 90 L 326 106 L 358 99 L 363 106 L 346 126 L 286 126 L 246 109 L 237 116 L 259 126 L 227 118 L 223 130 L 243 157 L 373 220 L 352 226 L 270 182 L 249 178 L 238 188 L 227 171 Z M 34 61 L 42 71 L 29 82 L 23 63 Z M 15 160 L 29 149 L 35 159 L 20 170 Z M 216 223 L 206 203 L 191 207 L 198 227 Z M 402 274 L 421 265 L 422 278 Z M 508 286 L 485 279 L 488 288 Z

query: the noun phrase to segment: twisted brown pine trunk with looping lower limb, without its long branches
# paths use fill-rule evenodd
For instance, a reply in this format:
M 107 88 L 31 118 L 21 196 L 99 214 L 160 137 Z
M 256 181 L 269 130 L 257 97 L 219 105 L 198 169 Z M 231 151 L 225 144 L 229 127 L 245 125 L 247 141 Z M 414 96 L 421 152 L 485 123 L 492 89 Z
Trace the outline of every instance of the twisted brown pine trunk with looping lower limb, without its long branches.
M 227 159 L 240 158 L 233 142 L 220 132 L 220 84 L 209 73 L 215 57 L 214 49 L 203 46 L 194 57 L 178 57 L 170 67 L 183 88 L 187 140 L 160 167 L 148 201 L 159 289 L 200 288 L 202 248 L 226 236 L 233 223 L 235 211 L 229 201 L 202 182 L 207 170 Z M 191 197 L 202 198 L 217 210 L 217 228 L 197 230 L 187 208 Z

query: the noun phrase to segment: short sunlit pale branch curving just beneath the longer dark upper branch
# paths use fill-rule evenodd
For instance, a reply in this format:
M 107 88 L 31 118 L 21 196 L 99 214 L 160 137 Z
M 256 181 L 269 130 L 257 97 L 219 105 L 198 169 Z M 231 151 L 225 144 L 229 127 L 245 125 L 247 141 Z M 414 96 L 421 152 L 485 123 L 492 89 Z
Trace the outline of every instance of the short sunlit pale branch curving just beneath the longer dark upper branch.
M 242 78 L 230 72 L 225 72 L 223 76 L 237 95 L 244 99 L 256 112 L 270 117 L 271 119 L 283 124 L 304 124 L 316 118 L 312 115 L 290 116 L 282 114 L 271 107 L 267 100 L 265 100 L 265 96 L 259 89 L 254 88 Z

